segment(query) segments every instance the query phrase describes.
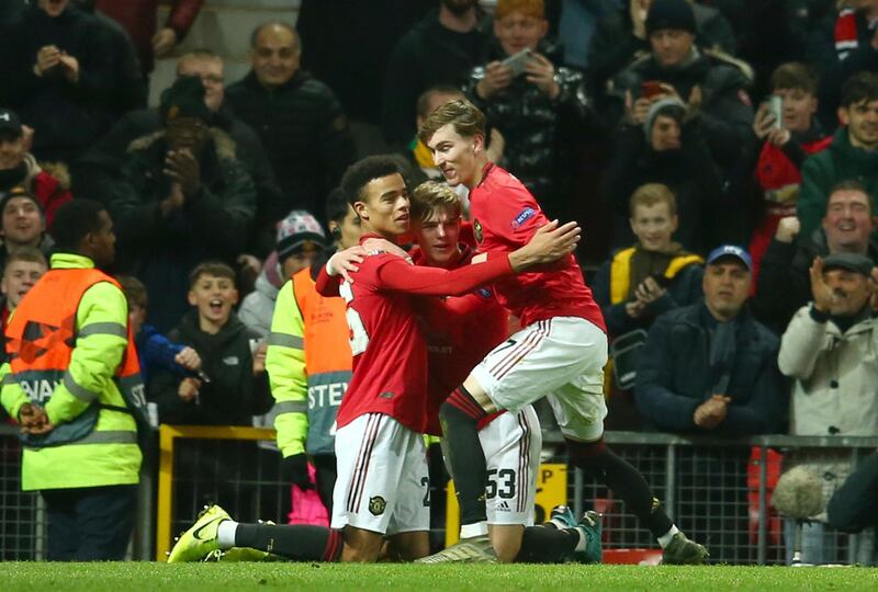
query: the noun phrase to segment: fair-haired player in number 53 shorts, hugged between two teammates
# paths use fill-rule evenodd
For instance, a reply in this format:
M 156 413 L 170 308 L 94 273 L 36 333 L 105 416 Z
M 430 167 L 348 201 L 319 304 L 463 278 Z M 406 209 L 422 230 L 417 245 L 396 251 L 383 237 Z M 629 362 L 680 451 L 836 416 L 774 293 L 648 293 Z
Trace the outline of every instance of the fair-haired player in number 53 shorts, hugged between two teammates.
M 416 265 L 447 270 L 469 265 L 475 250 L 460 241 L 461 202 L 444 183 L 418 185 L 410 201 L 412 232 L 418 248 Z M 494 292 L 483 287 L 453 298 L 426 298 L 418 303 L 427 338 L 430 413 L 472 368 L 509 333 L 508 314 Z M 526 405 L 517 413 L 494 413 L 479 425 L 488 480 L 487 522 L 491 543 L 500 562 L 600 561 L 597 515 L 533 526 L 542 434 L 537 413 Z M 572 514 L 571 514 L 572 516 Z M 475 557 L 462 556 L 466 560 Z M 439 554 L 424 562 L 438 562 Z

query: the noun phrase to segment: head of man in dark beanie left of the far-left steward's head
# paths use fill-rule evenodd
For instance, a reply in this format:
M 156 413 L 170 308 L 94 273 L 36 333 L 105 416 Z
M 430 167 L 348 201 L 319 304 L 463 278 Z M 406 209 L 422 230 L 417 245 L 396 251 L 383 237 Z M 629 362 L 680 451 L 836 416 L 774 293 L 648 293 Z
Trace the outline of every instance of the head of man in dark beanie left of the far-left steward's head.
M 46 229 L 40 202 L 21 187 L 13 187 L 0 198 L 0 265 L 11 253 L 21 249 L 40 249 L 45 257 L 52 253 L 54 241 Z

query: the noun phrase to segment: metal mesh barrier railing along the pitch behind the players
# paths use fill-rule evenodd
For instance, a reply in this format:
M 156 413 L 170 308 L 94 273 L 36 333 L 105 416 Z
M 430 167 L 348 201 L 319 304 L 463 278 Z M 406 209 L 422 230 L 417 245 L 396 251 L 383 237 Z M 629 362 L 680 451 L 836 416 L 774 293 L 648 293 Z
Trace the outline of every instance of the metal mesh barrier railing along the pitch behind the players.
M 0 559 L 41 559 L 45 549 L 42 500 L 20 491 L 20 448 L 15 426 L 0 426 Z M 159 430 L 157 500 L 149 470 L 132 557 L 162 559 L 173 532 L 184 530 L 202 504 L 222 503 L 233 517 L 286 522 L 290 486 L 280 478 L 280 455 L 257 446 L 274 431 L 234 426 L 162 425 Z M 767 435 L 739 440 L 685 437 L 661 433 L 607 432 L 607 442 L 638 467 L 668 513 L 688 535 L 708 545 L 713 560 L 783 563 L 783 521 L 769 508 L 778 471 L 776 451 L 843 449 L 852 464 L 878 448 L 878 437 Z M 560 444 L 556 433 L 545 444 Z M 562 452 L 556 460 L 565 462 Z M 605 547 L 654 548 L 655 540 L 607 489 L 572 469 L 567 485 L 577 514 L 595 506 L 605 514 Z M 436 498 L 434 498 L 436 499 Z M 156 503 L 157 502 L 157 503 Z M 153 510 L 156 509 L 155 519 Z M 155 533 L 155 542 L 150 542 Z M 826 546 L 837 562 L 866 562 L 873 550 L 862 535 L 829 532 Z M 153 543 L 155 546 L 153 546 Z

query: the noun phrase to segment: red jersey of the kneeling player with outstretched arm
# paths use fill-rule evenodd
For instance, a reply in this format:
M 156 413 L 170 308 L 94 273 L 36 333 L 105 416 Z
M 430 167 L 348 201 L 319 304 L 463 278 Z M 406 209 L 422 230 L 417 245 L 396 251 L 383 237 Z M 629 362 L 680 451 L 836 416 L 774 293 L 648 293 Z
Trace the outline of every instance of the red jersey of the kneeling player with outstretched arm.
M 459 296 L 511 273 L 505 255 L 454 271 L 414 266 L 386 253 L 365 258 L 353 283 L 339 291 L 348 306 L 353 376 L 338 409 L 338 426 L 364 413 L 385 413 L 409 430 L 437 433 L 427 396 L 427 345 L 413 296 Z M 317 292 L 331 296 L 336 286 L 322 271 Z

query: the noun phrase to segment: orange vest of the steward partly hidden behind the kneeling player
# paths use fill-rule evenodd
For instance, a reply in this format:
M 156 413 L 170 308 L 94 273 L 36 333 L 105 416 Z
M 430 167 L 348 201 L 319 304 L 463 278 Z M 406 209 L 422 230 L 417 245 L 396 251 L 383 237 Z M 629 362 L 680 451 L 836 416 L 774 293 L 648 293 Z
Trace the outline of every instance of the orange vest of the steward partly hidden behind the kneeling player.
M 311 269 L 293 275 L 293 294 L 305 327 L 308 376 L 308 454 L 335 454 L 335 422 L 353 367 L 345 299 L 317 294 Z

